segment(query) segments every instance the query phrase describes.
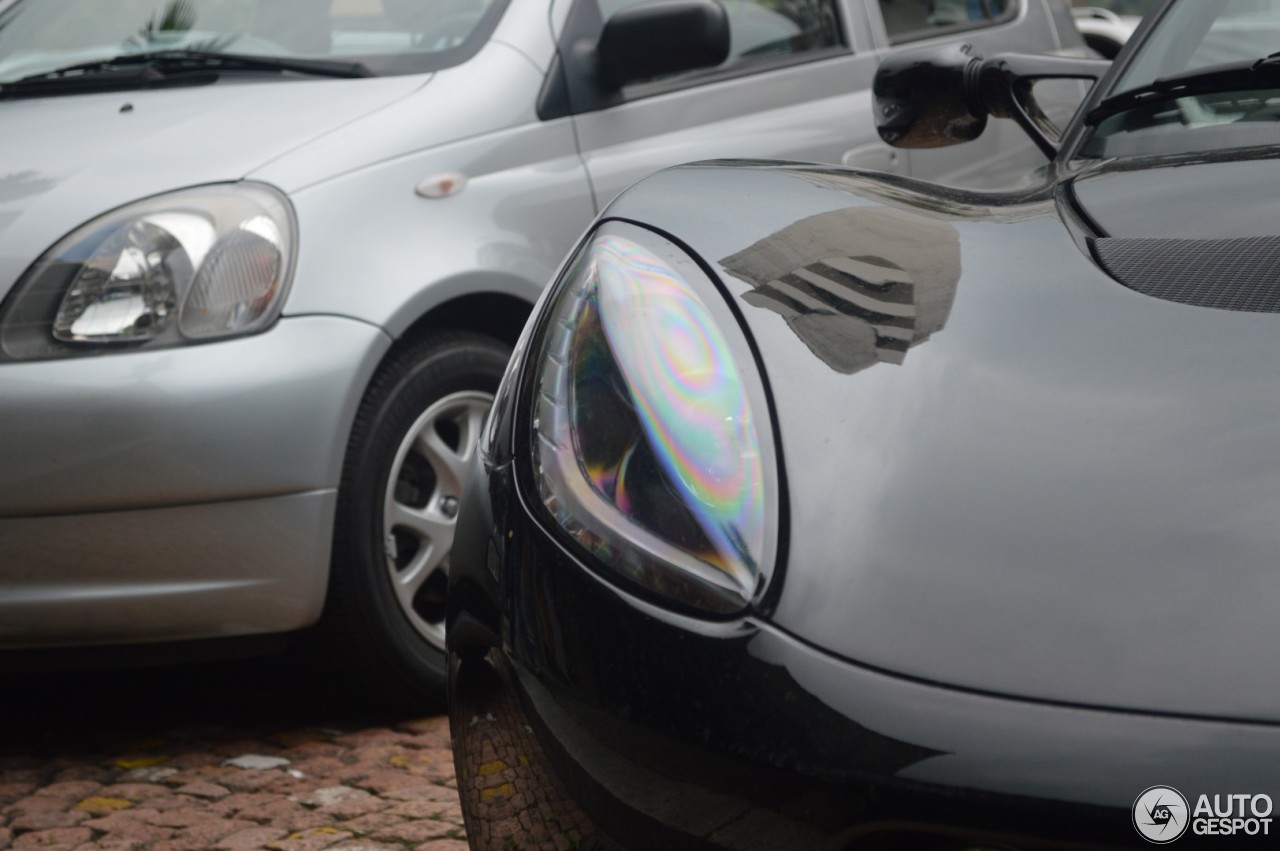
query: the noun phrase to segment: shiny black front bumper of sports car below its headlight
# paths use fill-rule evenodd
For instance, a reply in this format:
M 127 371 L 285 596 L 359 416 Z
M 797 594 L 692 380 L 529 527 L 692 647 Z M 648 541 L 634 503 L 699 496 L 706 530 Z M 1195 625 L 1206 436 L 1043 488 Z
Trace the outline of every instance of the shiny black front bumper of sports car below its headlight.
M 1133 805 L 1151 786 L 1193 805 L 1280 792 L 1280 728 L 966 692 L 756 619 L 673 616 L 563 549 L 509 466 L 476 484 L 449 641 L 477 848 L 1147 847 Z

